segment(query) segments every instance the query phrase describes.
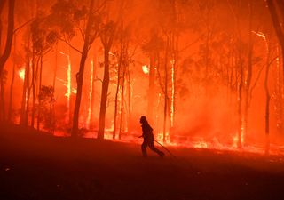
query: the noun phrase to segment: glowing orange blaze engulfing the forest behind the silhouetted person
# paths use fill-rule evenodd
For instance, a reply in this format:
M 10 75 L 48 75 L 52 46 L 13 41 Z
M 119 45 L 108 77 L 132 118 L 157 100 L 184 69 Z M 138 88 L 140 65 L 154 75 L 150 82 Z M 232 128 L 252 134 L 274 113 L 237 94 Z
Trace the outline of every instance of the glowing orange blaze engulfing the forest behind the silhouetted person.
M 12 54 L 20 55 L 6 62 L 3 80 L 20 98 L 2 102 L 21 123 L 57 135 L 141 142 L 138 119 L 147 116 L 164 145 L 283 149 L 284 44 L 274 33 L 283 21 L 273 28 L 264 2 L 241 0 L 242 9 L 222 1 L 51 2 L 36 6 L 45 11 L 40 18 L 28 10 L 15 15 Z M 16 84 L 14 75 L 25 81 Z

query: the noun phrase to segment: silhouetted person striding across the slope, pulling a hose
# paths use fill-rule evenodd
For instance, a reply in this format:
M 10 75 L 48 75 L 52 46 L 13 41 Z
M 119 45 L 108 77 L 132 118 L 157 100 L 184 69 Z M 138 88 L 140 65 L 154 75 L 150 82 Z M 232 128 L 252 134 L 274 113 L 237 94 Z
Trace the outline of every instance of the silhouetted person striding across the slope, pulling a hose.
M 153 134 L 153 129 L 150 126 L 150 124 L 148 124 L 147 120 L 146 120 L 146 116 L 141 116 L 140 118 L 140 123 L 142 124 L 142 136 L 144 138 L 144 141 L 141 145 L 142 148 L 142 154 L 144 157 L 147 156 L 147 151 L 146 148 L 149 147 L 151 150 L 153 150 L 154 152 L 156 152 L 159 156 L 164 156 L 165 154 L 160 151 L 158 148 L 154 147 L 154 134 Z

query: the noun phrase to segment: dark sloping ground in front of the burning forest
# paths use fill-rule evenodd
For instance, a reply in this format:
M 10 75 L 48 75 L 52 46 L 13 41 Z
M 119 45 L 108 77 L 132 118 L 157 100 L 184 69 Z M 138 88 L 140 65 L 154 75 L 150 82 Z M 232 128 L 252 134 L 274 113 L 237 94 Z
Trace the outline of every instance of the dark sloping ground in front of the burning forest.
M 284 199 L 284 160 L 246 152 L 53 137 L 0 126 L 1 200 Z

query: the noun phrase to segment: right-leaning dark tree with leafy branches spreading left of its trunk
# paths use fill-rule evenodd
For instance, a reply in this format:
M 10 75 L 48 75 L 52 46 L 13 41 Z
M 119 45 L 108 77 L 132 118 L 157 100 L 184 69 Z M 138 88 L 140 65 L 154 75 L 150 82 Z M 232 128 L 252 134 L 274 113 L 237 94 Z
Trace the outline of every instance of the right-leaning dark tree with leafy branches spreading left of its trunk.
M 99 31 L 99 9 L 101 5 L 97 5 L 94 12 L 94 0 L 89 2 L 88 8 L 81 2 L 74 1 L 58 1 L 52 7 L 50 23 L 59 28 L 59 40 L 67 43 L 73 50 L 81 54 L 79 71 L 76 74 L 77 93 L 75 99 L 75 109 L 73 118 L 73 127 L 71 135 L 76 137 L 78 134 L 79 113 L 83 93 L 83 72 L 85 62 L 91 44 L 97 37 Z M 104 3 L 103 3 L 104 4 Z M 79 31 L 83 36 L 82 51 L 75 48 L 70 40 L 75 36 L 75 31 Z

